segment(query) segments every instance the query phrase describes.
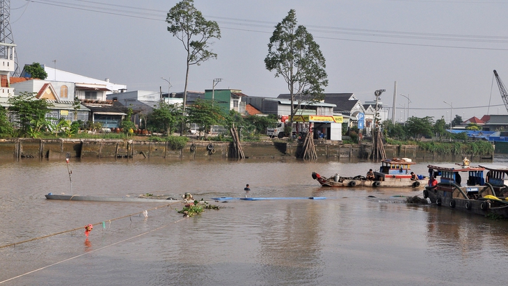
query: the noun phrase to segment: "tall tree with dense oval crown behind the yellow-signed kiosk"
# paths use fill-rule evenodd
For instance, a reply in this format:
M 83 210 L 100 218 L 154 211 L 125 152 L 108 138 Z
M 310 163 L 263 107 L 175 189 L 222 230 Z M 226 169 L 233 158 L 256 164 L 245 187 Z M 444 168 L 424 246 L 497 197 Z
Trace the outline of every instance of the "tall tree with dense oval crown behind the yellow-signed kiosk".
M 267 70 L 275 70 L 275 77 L 283 77 L 287 83 L 291 123 L 301 103 L 322 98 L 324 86 L 328 86 L 325 59 L 319 45 L 305 26 L 297 24 L 293 9 L 275 26 L 264 64 Z

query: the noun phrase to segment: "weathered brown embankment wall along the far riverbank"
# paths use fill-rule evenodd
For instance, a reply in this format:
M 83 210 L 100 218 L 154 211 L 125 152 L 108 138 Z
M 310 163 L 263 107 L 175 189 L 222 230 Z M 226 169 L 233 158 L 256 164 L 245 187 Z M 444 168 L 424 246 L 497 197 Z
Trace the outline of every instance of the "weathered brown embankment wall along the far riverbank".
M 209 146 L 212 145 L 212 146 Z M 244 142 L 242 148 L 251 159 L 294 158 L 299 152 L 298 143 Z M 213 150 L 211 150 L 213 149 Z M 73 158 L 132 158 L 159 157 L 166 159 L 228 159 L 230 143 L 195 141 L 182 150 L 173 150 L 167 142 L 123 141 L 116 139 L 30 139 L 0 140 L 0 160 L 65 159 Z M 318 159 L 331 161 L 357 161 L 368 159 L 370 145 L 331 144 L 316 141 Z M 461 161 L 462 154 L 438 154 L 422 150 L 415 145 L 385 145 L 386 157 L 407 157 L 417 161 Z M 493 154 L 474 156 L 472 161 L 492 161 Z

